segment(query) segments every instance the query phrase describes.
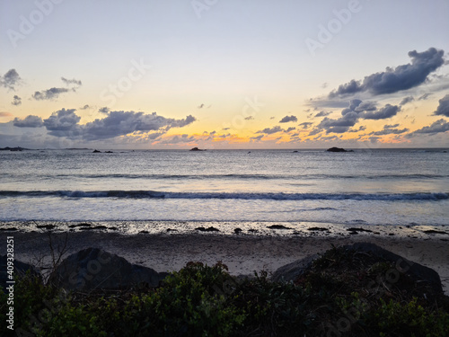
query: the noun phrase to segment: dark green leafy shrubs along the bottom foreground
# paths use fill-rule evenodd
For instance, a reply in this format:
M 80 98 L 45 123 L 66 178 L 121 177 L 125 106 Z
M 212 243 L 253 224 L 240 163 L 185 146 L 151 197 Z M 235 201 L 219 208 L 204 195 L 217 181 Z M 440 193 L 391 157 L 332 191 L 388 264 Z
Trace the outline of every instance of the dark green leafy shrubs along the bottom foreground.
M 29 274 L 17 279 L 14 326 L 23 336 L 449 335 L 449 298 L 406 274 L 384 278 L 393 268 L 333 249 L 290 283 L 263 271 L 236 279 L 222 263 L 189 262 L 159 288 L 89 294 L 44 286 Z M 2 324 L 0 334 L 8 333 Z

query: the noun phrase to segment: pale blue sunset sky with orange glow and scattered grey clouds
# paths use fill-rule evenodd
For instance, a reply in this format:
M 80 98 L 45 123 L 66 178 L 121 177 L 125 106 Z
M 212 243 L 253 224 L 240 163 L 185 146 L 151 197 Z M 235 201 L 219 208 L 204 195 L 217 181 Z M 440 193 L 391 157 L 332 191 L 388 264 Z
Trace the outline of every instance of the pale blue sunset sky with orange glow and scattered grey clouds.
M 0 147 L 449 146 L 447 0 L 2 0 Z

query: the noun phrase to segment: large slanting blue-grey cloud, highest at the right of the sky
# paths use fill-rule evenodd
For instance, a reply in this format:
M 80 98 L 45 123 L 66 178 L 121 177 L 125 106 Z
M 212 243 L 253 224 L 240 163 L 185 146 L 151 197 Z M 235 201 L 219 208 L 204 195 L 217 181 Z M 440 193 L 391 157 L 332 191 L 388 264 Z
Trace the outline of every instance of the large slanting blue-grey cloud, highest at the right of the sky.
M 345 97 L 356 93 L 368 92 L 373 95 L 397 93 L 423 84 L 427 76 L 445 64 L 444 50 L 427 49 L 421 53 L 409 51 L 411 63 L 395 68 L 387 67 L 384 72 L 365 76 L 363 81 L 351 80 L 339 85 L 330 92 L 329 97 Z

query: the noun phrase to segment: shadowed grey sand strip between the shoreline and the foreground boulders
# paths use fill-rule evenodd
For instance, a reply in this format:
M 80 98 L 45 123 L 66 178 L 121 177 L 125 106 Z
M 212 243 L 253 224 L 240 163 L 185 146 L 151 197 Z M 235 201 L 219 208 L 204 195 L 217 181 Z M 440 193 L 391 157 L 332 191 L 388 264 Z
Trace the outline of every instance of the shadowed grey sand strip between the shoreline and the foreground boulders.
M 42 232 L 1 233 L 14 237 L 14 256 L 22 262 L 36 263 L 44 257 L 50 263 L 49 236 Z M 216 233 L 164 233 L 123 235 L 101 231 L 53 233 L 53 247 L 62 247 L 67 236 L 67 252 L 99 247 L 116 253 L 128 262 L 157 271 L 180 270 L 187 262 L 212 265 L 225 263 L 233 275 L 254 270 L 273 272 L 277 268 L 314 253 L 323 253 L 333 245 L 370 242 L 418 262 L 438 272 L 445 294 L 449 295 L 449 242 L 441 236 L 413 238 L 391 235 L 223 235 Z M 6 244 L 4 244 L 4 247 Z

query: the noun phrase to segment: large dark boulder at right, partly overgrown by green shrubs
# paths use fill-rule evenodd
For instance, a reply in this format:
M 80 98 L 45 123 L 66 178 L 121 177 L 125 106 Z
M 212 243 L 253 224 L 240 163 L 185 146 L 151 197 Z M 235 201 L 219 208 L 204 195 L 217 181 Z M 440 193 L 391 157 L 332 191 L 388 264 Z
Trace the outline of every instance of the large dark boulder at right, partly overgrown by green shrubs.
M 342 267 L 347 269 L 345 272 L 350 272 L 349 269 L 356 269 L 354 261 L 357 262 L 363 259 L 365 263 L 366 270 L 371 270 L 374 265 L 380 265 L 383 262 L 389 262 L 392 265 L 390 270 L 385 270 L 384 279 L 399 277 L 401 274 L 407 275 L 409 280 L 413 281 L 413 284 L 419 285 L 422 289 L 427 289 L 430 293 L 441 294 L 443 293 L 443 288 L 441 285 L 441 279 L 438 273 L 426 266 L 423 266 L 416 262 L 410 262 L 409 260 L 401 257 L 396 253 L 392 253 L 379 247 L 376 244 L 369 243 L 357 243 L 341 246 L 335 249 L 336 256 L 341 258 L 341 265 L 339 265 L 338 270 L 342 270 Z M 329 253 L 330 251 L 326 252 Z M 323 253 L 322 255 L 326 255 Z M 348 259 L 347 259 L 348 257 Z M 272 276 L 274 281 L 295 281 L 301 278 L 305 273 L 313 270 L 316 265 L 315 262 L 321 258 L 321 255 L 315 254 L 308 256 L 302 260 L 295 261 L 293 263 L 286 264 L 285 266 L 277 269 Z M 330 259 L 330 261 L 333 258 Z M 333 264 L 337 267 L 338 262 Z M 393 278 L 394 276 L 394 278 Z M 387 282 L 388 283 L 388 282 Z M 405 284 L 401 284 L 405 287 Z M 423 290 L 425 291 L 425 290 Z

